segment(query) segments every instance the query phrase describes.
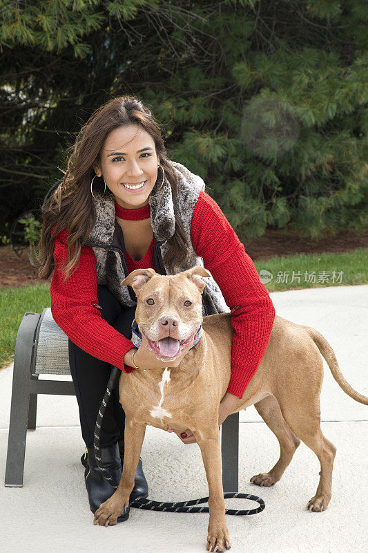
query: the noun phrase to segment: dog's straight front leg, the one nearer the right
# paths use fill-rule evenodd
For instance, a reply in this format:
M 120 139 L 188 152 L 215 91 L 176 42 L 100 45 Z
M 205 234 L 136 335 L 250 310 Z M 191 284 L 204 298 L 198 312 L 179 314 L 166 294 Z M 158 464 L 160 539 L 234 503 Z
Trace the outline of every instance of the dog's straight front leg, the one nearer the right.
M 217 414 L 217 413 L 216 413 Z M 222 488 L 222 457 L 220 429 L 212 432 L 193 432 L 200 446 L 204 469 L 209 484 L 209 534 L 207 550 L 210 552 L 230 549 L 229 530 L 225 521 L 224 491 Z

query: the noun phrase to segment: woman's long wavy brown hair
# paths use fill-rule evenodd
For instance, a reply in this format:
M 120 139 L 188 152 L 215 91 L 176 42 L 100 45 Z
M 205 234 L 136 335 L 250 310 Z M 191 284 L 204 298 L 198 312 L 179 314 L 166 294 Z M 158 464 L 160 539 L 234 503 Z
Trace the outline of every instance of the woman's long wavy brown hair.
M 96 222 L 96 210 L 90 194 L 90 182 L 95 176 L 93 166 L 99 164 L 104 141 L 117 126 L 139 125 L 149 133 L 154 142 L 159 164 L 164 167 L 165 178 L 171 185 L 174 210 L 177 194 L 177 178 L 171 162 L 166 157 L 162 131 L 155 122 L 151 111 L 137 97 L 119 96 L 99 107 L 82 126 L 71 151 L 64 178 L 55 192 L 48 198 L 43 209 L 41 237 L 37 247 L 39 279 L 48 279 L 55 267 L 53 257 L 54 241 L 57 233 L 68 229 L 68 262 L 61 268 L 68 281 L 73 268 L 77 268 L 81 247 L 84 245 Z M 159 171 L 157 180 L 162 172 Z M 111 192 L 106 188 L 106 191 Z M 187 256 L 187 240 L 184 228 L 175 211 L 175 233 L 168 241 L 168 251 L 164 263 L 168 270 L 180 266 Z M 51 236 L 51 230 L 55 231 Z

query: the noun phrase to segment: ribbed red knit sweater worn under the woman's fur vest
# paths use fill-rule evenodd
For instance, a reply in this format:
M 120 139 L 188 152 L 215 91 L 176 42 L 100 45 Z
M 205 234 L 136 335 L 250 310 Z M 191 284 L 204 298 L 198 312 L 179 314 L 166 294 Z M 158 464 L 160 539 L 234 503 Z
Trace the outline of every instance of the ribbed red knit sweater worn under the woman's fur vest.
M 201 191 L 193 212 L 191 241 L 202 257 L 231 309 L 235 330 L 231 350 L 231 379 L 227 391 L 244 395 L 269 343 L 275 308 L 269 292 L 258 277 L 253 261 L 215 200 Z M 68 231 L 55 236 L 55 272 L 50 294 L 52 317 L 74 344 L 97 359 L 134 371 L 124 364 L 132 342 L 101 318 L 98 304 L 96 257 L 92 247 L 83 246 L 77 270 L 64 283 L 59 263 L 67 259 Z M 126 255 L 128 272 L 154 268 L 153 243 L 140 261 Z

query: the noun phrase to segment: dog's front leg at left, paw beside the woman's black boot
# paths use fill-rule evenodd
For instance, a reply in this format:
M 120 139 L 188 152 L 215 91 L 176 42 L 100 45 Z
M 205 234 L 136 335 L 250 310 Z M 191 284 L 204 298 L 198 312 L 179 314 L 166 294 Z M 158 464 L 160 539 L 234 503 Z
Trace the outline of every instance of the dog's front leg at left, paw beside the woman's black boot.
M 128 420 L 126 416 L 122 478 L 114 494 L 104 503 L 101 503 L 95 512 L 95 521 L 93 524 L 113 526 L 117 524 L 117 517 L 128 507 L 129 496 L 134 487 L 135 472 L 137 471 L 145 433 L 145 425 L 136 424 L 132 420 Z

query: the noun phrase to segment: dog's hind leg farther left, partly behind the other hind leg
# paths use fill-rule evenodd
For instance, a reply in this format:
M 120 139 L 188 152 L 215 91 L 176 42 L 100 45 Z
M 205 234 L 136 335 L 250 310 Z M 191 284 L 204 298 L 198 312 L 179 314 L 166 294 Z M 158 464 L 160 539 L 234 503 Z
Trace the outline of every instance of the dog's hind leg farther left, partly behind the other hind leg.
M 300 444 L 300 440 L 289 429 L 282 416 L 278 401 L 273 395 L 264 397 L 263 400 L 256 403 L 254 406 L 269 429 L 271 429 L 276 438 L 278 438 L 280 444 L 280 458 L 269 472 L 253 476 L 251 482 L 259 486 L 272 486 L 275 482 L 278 482 L 282 474 L 284 474 L 285 469 L 293 458 L 296 448 Z

